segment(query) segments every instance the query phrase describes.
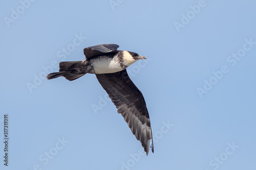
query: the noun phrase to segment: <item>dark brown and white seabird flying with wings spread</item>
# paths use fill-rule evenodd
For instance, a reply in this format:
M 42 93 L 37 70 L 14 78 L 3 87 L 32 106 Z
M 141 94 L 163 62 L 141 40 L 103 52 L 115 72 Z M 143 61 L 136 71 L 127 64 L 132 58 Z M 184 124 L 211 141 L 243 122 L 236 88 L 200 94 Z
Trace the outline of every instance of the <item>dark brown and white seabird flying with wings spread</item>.
M 126 68 L 139 59 L 146 59 L 137 53 L 117 50 L 117 44 L 100 44 L 84 48 L 86 59 L 82 61 L 60 62 L 59 72 L 49 74 L 47 79 L 65 77 L 76 80 L 89 73 L 95 74 L 100 85 L 121 113 L 137 140 L 141 142 L 146 155 L 154 153 L 150 116 L 141 91 L 127 74 Z

